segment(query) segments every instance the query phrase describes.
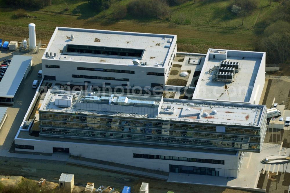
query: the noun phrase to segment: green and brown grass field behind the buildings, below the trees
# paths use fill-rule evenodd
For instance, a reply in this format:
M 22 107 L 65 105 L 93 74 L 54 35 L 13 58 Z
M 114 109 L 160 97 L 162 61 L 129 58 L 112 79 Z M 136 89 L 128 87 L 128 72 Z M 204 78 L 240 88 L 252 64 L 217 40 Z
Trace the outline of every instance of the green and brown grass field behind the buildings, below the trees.
M 127 4 L 130 0 L 119 3 Z M 206 53 L 208 48 L 233 50 L 254 50 L 257 40 L 255 24 L 269 17 L 278 3 L 260 0 L 259 8 L 242 18 L 229 11 L 231 0 L 189 1 L 178 8 L 171 7 L 170 19 L 148 19 L 138 21 L 128 15 L 124 20 L 115 22 L 110 19 L 112 8 L 106 12 L 95 13 L 83 0 L 54 0 L 51 6 L 38 11 L 26 12 L 37 18 L 16 18 L 17 10 L 3 8 L 0 0 L 0 38 L 21 41 L 28 37 L 28 24 L 36 24 L 37 39 L 48 43 L 56 26 L 92 28 L 102 30 L 132 31 L 144 33 L 176 34 L 177 49 L 184 52 Z M 68 10 L 64 11 L 66 8 Z M 189 25 L 178 24 L 180 14 L 183 14 Z M 106 18 L 104 18 L 106 15 Z M 259 25 L 259 28 L 263 26 Z M 257 31 L 257 30 L 256 30 Z

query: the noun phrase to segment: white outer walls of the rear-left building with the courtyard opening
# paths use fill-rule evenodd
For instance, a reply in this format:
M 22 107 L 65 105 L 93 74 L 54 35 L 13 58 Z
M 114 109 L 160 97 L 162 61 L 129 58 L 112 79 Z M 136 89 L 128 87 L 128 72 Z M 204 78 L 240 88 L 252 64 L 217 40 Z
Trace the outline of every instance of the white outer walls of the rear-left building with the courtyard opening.
M 88 75 L 88 76 L 101 76 L 101 77 L 115 77 L 115 78 L 127 78 L 129 79 L 130 86 L 150 86 L 151 83 L 159 83 L 165 86 L 167 80 L 167 74 L 169 73 L 169 66 L 173 63 L 173 59 L 176 56 L 177 46 L 176 38 L 173 39 L 171 48 L 168 51 L 167 58 L 164 62 L 163 67 L 133 65 L 133 62 L 128 65 L 118 65 L 109 63 L 93 63 L 93 62 L 80 62 L 80 61 L 66 61 L 56 59 L 42 59 L 42 74 L 43 76 L 55 76 L 56 81 L 76 82 L 84 83 L 84 81 L 90 81 L 92 84 L 102 84 L 104 82 L 110 83 L 111 85 L 122 85 L 126 84 L 126 81 L 115 81 L 115 80 L 97 80 L 97 79 L 81 79 L 72 78 L 72 74 Z M 46 68 L 46 65 L 59 65 L 60 68 Z M 115 73 L 115 72 L 100 72 L 100 71 L 89 71 L 89 70 L 77 70 L 77 67 L 86 68 L 105 68 L 115 70 L 133 70 L 135 74 L 128 73 Z M 165 76 L 147 75 L 147 72 L 160 72 L 165 73 Z M 73 83 L 72 83 L 73 84 Z

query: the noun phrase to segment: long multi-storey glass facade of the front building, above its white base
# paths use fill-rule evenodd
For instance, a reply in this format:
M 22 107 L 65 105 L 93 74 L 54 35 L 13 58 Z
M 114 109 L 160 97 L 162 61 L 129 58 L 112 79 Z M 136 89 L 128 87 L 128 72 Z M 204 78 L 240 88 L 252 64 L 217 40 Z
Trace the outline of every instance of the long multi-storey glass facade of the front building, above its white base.
M 258 127 L 227 125 L 218 132 L 212 123 L 65 112 L 39 116 L 42 136 L 245 152 L 259 152 L 262 143 Z

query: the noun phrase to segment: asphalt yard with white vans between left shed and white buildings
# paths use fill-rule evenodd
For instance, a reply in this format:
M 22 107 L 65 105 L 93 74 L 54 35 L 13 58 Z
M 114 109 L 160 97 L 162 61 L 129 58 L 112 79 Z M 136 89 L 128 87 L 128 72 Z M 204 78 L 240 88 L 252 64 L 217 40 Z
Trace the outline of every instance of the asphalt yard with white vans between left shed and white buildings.
M 25 52 L 12 52 L 9 50 L 0 50 L 0 61 L 10 59 L 13 55 L 27 55 L 33 56 L 33 66 L 28 74 L 28 77 L 24 80 L 19 87 L 18 95 L 14 101 L 13 106 L 9 106 L 7 109 L 7 119 L 0 130 L 0 147 L 1 149 L 9 149 L 14 137 L 19 129 L 23 117 L 35 95 L 35 89 L 32 88 L 33 80 L 41 80 L 41 77 L 37 77 L 38 70 L 41 69 L 41 57 L 44 54 L 44 50 L 40 50 L 39 53 L 25 53 Z M 9 67 L 8 67 L 9 68 Z M 4 75 L 5 76 L 5 75 Z M 0 88 L 1 89 L 1 88 Z M 0 105 L 1 106 L 1 105 Z

